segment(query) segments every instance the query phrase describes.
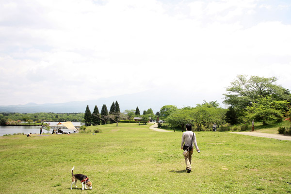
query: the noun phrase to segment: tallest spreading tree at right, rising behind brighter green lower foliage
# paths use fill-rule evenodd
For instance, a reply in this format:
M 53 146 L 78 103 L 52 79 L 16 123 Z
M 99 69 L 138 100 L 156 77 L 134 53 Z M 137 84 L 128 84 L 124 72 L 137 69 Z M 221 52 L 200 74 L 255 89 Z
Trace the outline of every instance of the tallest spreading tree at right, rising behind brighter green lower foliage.
M 236 112 L 238 122 L 245 117 L 247 107 L 259 102 L 260 98 L 271 97 L 271 100 L 287 100 L 290 103 L 291 95 L 288 89 L 275 84 L 277 78 L 264 78 L 244 75 L 237 76 L 237 80 L 230 83 L 224 94 L 224 103 L 232 106 Z

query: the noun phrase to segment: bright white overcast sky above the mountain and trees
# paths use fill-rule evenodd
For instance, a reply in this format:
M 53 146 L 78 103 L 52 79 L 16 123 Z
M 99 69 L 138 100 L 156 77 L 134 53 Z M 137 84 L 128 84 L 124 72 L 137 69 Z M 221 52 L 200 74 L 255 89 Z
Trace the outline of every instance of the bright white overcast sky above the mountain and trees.
M 239 74 L 291 90 L 290 69 L 290 0 L 0 1 L 0 105 L 149 89 L 220 102 Z

